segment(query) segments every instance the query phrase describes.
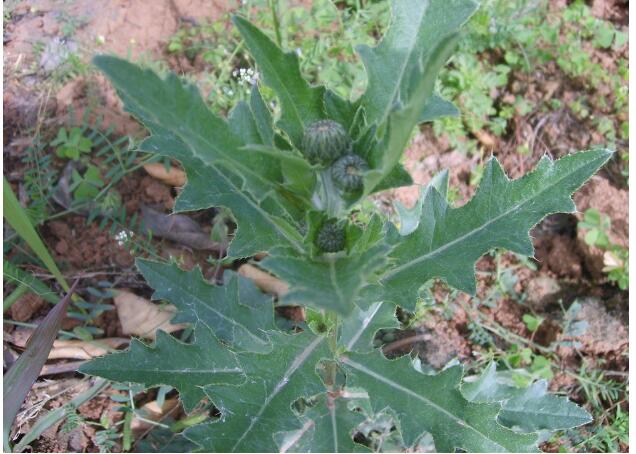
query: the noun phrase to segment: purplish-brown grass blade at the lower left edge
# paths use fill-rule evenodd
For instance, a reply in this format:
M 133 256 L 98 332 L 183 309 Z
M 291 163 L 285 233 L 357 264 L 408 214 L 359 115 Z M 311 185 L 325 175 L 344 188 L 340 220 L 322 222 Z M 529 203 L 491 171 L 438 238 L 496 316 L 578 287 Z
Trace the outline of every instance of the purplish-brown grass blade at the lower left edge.
M 6 180 L 5 180 L 6 182 Z M 62 326 L 62 320 L 66 315 L 66 308 L 71 300 L 71 295 L 77 286 L 73 284 L 66 296 L 56 304 L 47 314 L 42 323 L 29 338 L 24 353 L 13 364 L 11 369 L 4 375 L 3 385 L 3 430 L 4 448 L 9 451 L 9 437 L 11 425 L 15 419 L 22 402 L 38 378 L 42 366 L 49 356 L 49 351 L 53 346 L 53 341 Z

